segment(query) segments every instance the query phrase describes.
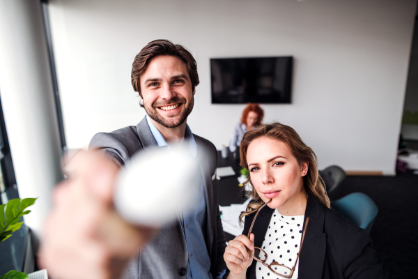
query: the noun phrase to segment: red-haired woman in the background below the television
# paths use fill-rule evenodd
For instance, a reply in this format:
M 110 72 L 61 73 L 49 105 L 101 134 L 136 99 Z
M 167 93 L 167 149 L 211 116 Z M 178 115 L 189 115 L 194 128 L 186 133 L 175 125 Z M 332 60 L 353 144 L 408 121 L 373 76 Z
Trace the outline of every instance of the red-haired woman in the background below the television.
M 245 132 L 261 125 L 264 111 L 258 104 L 249 103 L 242 111 L 241 121 L 233 129 L 233 135 L 229 141 L 229 151 L 235 152 L 237 146 L 240 146 L 242 135 Z

